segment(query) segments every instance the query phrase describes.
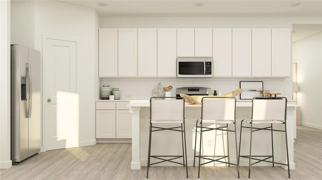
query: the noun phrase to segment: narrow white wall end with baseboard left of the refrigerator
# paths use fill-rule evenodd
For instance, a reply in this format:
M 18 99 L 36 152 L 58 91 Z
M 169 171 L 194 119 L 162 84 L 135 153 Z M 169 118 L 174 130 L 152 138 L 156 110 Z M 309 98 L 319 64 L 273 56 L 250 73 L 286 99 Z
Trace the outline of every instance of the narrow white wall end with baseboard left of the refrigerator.
M 0 1 L 0 168 L 10 160 L 10 1 Z

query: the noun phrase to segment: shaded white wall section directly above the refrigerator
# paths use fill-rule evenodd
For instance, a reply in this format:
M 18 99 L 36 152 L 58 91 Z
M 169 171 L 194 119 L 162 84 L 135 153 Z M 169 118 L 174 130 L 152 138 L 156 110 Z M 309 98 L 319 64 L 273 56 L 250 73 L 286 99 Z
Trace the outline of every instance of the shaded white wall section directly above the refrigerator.
M 34 1 L 11 1 L 11 44 L 34 48 Z

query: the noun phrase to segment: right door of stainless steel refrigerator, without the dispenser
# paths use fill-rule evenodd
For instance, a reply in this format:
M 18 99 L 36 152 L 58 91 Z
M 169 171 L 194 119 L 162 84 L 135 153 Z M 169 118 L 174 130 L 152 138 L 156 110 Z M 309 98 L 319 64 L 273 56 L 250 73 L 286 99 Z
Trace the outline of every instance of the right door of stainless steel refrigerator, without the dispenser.
M 31 156 L 40 151 L 40 128 L 41 128 L 41 66 L 40 66 L 40 51 L 28 48 L 28 63 L 31 68 L 31 114 L 29 118 L 29 151 Z

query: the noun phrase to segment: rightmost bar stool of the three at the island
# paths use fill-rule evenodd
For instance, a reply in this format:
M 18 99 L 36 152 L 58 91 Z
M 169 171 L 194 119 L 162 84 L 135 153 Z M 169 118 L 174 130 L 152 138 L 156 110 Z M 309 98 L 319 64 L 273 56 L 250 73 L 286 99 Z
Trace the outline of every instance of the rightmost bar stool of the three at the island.
M 280 164 L 288 167 L 289 172 L 289 149 L 287 144 L 287 132 L 286 132 L 286 108 L 287 108 L 287 98 L 285 97 L 255 97 L 252 99 L 252 110 L 251 110 L 251 121 L 242 120 L 242 123 L 251 124 L 251 127 L 243 126 L 241 123 L 241 134 L 240 134 L 240 143 L 239 143 L 239 158 L 247 158 L 249 159 L 249 167 L 248 167 L 248 177 L 251 177 L 251 165 L 257 164 L 259 162 L 270 162 L 273 167 L 274 164 Z M 269 127 L 258 128 L 253 127 L 253 124 L 270 124 Z M 284 124 L 285 131 L 273 129 L 273 124 Z M 271 156 L 252 156 L 251 155 L 251 145 L 249 156 L 240 156 L 241 149 L 241 139 L 242 139 L 242 128 L 250 128 L 251 129 L 251 139 L 252 142 L 252 133 L 260 130 L 268 130 L 271 131 L 271 141 L 272 141 L 272 155 Z M 253 130 L 255 129 L 255 130 Z M 285 140 L 286 140 L 286 154 L 287 154 L 287 164 L 274 162 L 274 149 L 273 149 L 273 131 L 285 132 Z M 256 157 L 256 158 L 253 158 Z M 264 157 L 264 159 L 258 159 L 259 157 Z M 239 161 L 238 158 L 238 161 Z M 267 159 L 272 158 L 272 161 Z M 251 163 L 251 159 L 257 160 L 254 163 Z M 290 178 L 290 174 L 289 174 Z

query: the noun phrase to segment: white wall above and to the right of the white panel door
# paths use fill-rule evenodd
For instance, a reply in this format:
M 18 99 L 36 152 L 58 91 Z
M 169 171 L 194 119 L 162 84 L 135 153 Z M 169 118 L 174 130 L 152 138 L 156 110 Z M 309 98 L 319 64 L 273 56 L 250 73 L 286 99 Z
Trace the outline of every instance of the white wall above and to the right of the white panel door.
M 95 140 L 95 10 L 58 1 L 35 1 L 34 42 L 42 51 L 43 35 L 77 41 L 77 93 L 80 146 Z M 43 80 L 45 81 L 45 80 Z

